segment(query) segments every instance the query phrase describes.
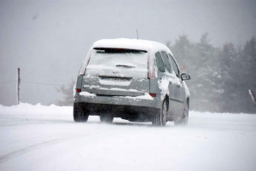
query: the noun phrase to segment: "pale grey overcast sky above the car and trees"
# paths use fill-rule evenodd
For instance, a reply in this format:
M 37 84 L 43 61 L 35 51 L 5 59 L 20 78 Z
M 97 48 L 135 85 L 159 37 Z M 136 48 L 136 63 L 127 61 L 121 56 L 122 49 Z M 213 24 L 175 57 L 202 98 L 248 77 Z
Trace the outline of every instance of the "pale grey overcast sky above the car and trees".
M 186 34 L 198 41 L 243 44 L 256 36 L 256 1 L 51 1 L 0 0 L 0 104 L 20 98 L 49 105 L 61 99 L 57 86 L 75 79 L 91 44 L 102 38 L 139 38 L 166 43 Z M 175 54 L 174 54 L 175 55 Z

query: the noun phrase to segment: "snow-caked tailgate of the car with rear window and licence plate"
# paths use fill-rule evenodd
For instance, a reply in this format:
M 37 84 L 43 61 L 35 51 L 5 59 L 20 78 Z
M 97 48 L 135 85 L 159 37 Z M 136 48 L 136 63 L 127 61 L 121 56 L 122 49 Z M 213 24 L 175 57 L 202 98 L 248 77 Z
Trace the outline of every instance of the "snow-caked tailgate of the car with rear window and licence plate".
M 148 53 L 132 49 L 94 49 L 84 75 L 91 94 L 138 96 L 149 92 Z

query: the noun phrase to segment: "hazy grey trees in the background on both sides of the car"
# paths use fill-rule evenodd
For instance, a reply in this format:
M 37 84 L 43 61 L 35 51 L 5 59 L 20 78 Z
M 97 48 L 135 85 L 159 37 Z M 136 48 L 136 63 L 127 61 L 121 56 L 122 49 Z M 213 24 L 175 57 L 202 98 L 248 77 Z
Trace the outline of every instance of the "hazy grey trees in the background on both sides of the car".
M 174 44 L 166 45 L 181 70 L 191 76 L 186 81 L 191 95 L 189 110 L 256 113 L 248 93 L 251 89 L 256 95 L 255 37 L 241 46 L 225 43 L 219 48 L 210 43 L 205 33 L 198 43 L 183 35 Z M 58 88 L 65 95 L 58 105 L 73 105 L 73 83 L 68 88 Z

